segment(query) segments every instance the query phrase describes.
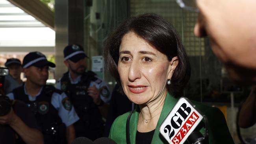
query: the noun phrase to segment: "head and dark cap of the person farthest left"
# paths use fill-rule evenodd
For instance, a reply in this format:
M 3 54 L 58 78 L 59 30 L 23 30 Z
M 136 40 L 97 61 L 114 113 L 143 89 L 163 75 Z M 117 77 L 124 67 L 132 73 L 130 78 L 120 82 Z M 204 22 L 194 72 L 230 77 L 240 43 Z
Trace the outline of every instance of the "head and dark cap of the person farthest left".
M 22 80 L 20 79 L 20 74 L 22 72 L 22 66 L 19 59 L 11 58 L 7 59 L 4 64 L 9 69 L 9 74 L 15 79 L 20 85 Z

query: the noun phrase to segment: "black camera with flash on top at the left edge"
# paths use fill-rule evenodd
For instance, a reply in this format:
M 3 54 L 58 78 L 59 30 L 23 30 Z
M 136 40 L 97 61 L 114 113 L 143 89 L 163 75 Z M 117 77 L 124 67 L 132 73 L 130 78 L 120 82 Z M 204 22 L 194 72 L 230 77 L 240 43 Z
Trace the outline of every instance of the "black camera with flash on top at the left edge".
M 10 99 L 5 95 L 5 76 L 9 75 L 8 68 L 0 67 L 0 116 L 4 116 L 11 111 Z

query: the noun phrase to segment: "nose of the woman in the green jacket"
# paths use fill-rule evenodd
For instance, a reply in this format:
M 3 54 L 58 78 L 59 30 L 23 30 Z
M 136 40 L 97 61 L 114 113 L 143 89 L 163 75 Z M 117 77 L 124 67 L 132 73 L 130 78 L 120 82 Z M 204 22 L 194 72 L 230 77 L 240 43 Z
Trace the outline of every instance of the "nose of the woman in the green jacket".
M 135 81 L 136 79 L 141 78 L 141 66 L 139 66 L 137 61 L 131 63 L 128 78 L 130 81 Z

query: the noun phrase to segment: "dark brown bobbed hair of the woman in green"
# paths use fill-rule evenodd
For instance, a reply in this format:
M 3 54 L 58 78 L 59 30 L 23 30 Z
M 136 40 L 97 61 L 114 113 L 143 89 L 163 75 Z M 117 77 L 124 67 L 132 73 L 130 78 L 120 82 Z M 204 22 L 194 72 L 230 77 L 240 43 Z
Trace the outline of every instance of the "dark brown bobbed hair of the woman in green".
M 181 96 L 190 78 L 190 64 L 186 50 L 173 26 L 154 13 L 146 13 L 124 20 L 109 36 L 104 50 L 104 59 L 117 83 L 121 85 L 117 71 L 119 46 L 122 37 L 130 31 L 143 38 L 162 54 L 165 54 L 169 61 L 175 56 L 178 57 L 178 65 L 171 78 L 171 85 L 167 85 L 167 89 L 175 97 Z

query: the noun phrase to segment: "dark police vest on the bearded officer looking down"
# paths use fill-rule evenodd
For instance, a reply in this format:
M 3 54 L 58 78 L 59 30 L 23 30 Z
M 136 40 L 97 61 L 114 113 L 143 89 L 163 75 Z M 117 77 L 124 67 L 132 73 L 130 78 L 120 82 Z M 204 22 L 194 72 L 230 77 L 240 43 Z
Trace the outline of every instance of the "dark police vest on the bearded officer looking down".
M 77 84 L 70 83 L 69 72 L 63 74 L 63 77 L 60 79 L 61 90 L 67 94 L 80 118 L 74 124 L 76 136 L 87 137 L 91 140 L 101 137 L 104 131 L 104 122 L 98 106 L 87 93 L 91 81 L 98 79 L 95 75 L 91 71 L 85 72 Z

